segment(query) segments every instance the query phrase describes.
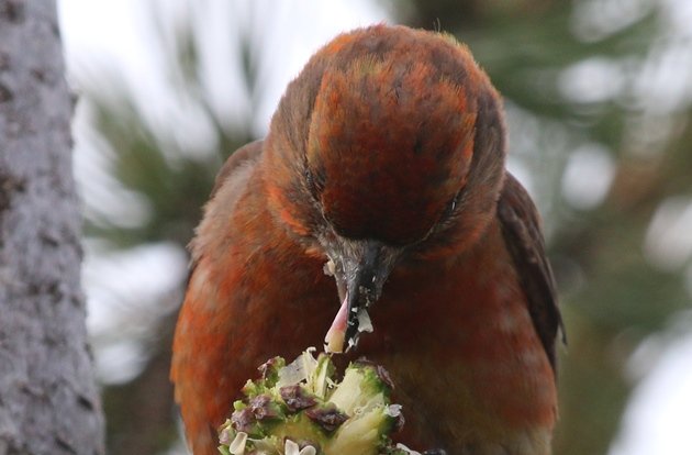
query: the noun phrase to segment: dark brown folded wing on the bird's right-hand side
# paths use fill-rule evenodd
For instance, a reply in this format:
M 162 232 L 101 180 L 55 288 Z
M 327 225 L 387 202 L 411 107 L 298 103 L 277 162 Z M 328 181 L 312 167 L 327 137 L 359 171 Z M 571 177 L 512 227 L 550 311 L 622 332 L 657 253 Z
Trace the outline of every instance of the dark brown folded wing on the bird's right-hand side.
M 498 202 L 498 217 L 506 247 L 526 293 L 528 312 L 555 370 L 555 340 L 558 330 L 565 341 L 555 278 L 546 257 L 536 207 L 524 187 L 509 173 Z

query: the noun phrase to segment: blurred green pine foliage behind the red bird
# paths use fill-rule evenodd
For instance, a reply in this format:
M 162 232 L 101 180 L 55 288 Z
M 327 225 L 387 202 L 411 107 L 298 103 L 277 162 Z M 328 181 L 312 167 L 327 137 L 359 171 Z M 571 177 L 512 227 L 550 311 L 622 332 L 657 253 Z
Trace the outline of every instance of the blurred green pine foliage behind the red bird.
M 670 46 L 679 44 L 668 26 L 668 7 L 654 0 L 387 4 L 403 23 L 442 29 L 467 43 L 505 98 L 511 153 L 531 176 L 545 217 L 569 336 L 569 348 L 561 356 L 561 420 L 555 453 L 605 454 L 634 386 L 625 374 L 628 356 L 646 336 L 666 330 L 678 311 L 690 309 L 683 282 L 690 259 L 661 268 L 645 254 L 649 223 L 661 202 L 692 197 L 692 97 L 681 98 L 668 110 L 652 108 L 656 78 L 645 77 Z M 623 9 L 620 15 L 617 8 Z M 620 22 L 603 23 L 609 18 L 605 12 Z M 185 22 L 178 25 L 172 40 L 159 34 L 167 52 L 165 71 L 171 75 L 175 89 L 186 93 L 213 125 L 212 149 L 190 154 L 161 140 L 125 89 L 116 97 L 102 97 L 98 89 L 86 90 L 82 97 L 82 102 L 94 108 L 96 127 L 113 152 L 113 175 L 139 195 L 150 211 L 134 228 L 87 220 L 89 236 L 118 247 L 160 240 L 183 247 L 215 170 L 253 135 L 249 119 L 230 121 L 215 113 L 200 78 L 199 30 Z M 248 99 L 256 102 L 259 88 L 253 55 L 261 49 L 249 37 L 241 47 L 238 67 Z M 592 73 L 580 73 L 589 65 L 610 68 L 604 74 L 612 80 L 589 79 Z M 602 86 L 610 82 L 614 88 L 602 93 Z M 574 85 L 581 91 L 570 91 Z M 658 133 L 647 135 L 649 130 Z M 574 151 L 594 144 L 605 151 L 614 169 L 603 200 L 584 208 L 566 197 L 563 180 Z M 155 453 L 170 442 L 170 388 L 167 374 L 160 371 L 167 369 L 172 320 L 170 314 L 163 318 L 157 329 L 161 335 L 154 337 L 153 360 L 145 370 L 132 384 L 105 390 L 111 454 Z M 139 382 L 146 391 L 133 392 Z M 158 392 L 164 398 L 152 409 L 164 413 L 161 419 L 133 411 L 142 407 L 143 395 Z M 134 421 L 123 413 L 139 418 Z M 156 428 L 148 429 L 152 423 Z M 133 429 L 137 439 L 152 442 L 129 445 L 127 440 L 135 437 L 129 433 Z

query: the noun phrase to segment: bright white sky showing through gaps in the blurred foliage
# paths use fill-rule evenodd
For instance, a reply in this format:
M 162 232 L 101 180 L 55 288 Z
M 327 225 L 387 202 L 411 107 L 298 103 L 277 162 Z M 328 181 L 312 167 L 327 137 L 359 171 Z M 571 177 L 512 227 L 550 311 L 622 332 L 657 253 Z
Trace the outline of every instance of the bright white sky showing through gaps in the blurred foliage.
M 153 48 L 152 31 L 144 12 L 144 5 L 163 0 L 62 0 L 59 3 L 63 38 L 66 56 L 72 79 L 80 80 L 98 76 L 99 71 L 112 69 L 121 71 L 133 92 L 139 97 L 142 107 L 155 121 L 170 122 L 178 116 L 178 122 L 187 122 L 190 113 L 168 101 L 168 93 L 163 89 L 160 74 L 160 49 Z M 253 3 L 253 11 L 247 8 Z M 672 0 L 670 0 L 672 2 Z M 185 0 L 168 2 L 170 14 L 187 13 Z M 217 46 L 216 55 L 232 55 L 234 51 L 225 29 L 227 18 L 236 20 L 237 31 L 261 33 L 266 40 L 266 49 L 260 62 L 260 77 L 265 84 L 259 112 L 254 116 L 253 126 L 257 134 L 266 131 L 269 118 L 274 112 L 286 85 L 304 65 L 309 56 L 331 37 L 356 26 L 387 21 L 384 9 L 367 0 L 331 0 L 326 1 L 272 1 L 245 0 L 221 1 L 201 0 L 208 7 L 207 14 L 196 13 L 196 20 L 208 24 L 201 40 L 208 46 Z M 692 3 L 692 2 L 691 2 Z M 199 8 L 204 10 L 204 8 Z M 692 9 L 687 9 L 690 11 Z M 257 11 L 261 12 L 257 14 Z M 692 16 L 687 13 L 687 16 Z M 685 26 L 689 26 L 687 23 Z M 249 31 L 249 32 L 248 32 Z M 233 32 L 233 31 L 231 31 Z M 228 62 L 211 59 L 207 62 L 210 75 L 223 74 Z M 576 71 L 577 69 L 574 69 Z M 567 74 L 566 77 L 572 74 Z M 574 73 L 573 75 L 577 75 Z M 573 76 L 572 75 L 572 76 Z M 567 80 L 567 79 L 566 79 Z M 210 76 L 207 81 L 219 99 L 220 110 L 228 110 L 231 115 L 244 115 L 247 112 L 247 100 L 228 103 L 227 99 L 236 96 L 242 89 L 238 80 Z M 692 86 L 691 86 L 692 87 Z M 226 101 L 224 101 L 226 100 Z M 230 108 L 228 108 L 230 106 Z M 83 119 L 82 119 L 83 120 Z M 175 124 L 175 122 L 174 122 Z M 83 126 L 83 125 L 82 125 Z M 172 130 L 176 130 L 174 126 Z M 82 188 L 93 166 L 83 164 L 89 147 L 88 135 L 76 132 L 77 178 Z M 202 126 L 188 133 L 201 141 L 205 130 Z M 81 137 L 81 141 L 80 141 Z M 202 137 L 202 138 L 200 138 Z M 188 137 L 188 140 L 190 140 Z M 605 155 L 600 151 L 583 149 L 573 157 L 576 170 L 578 166 L 601 166 Z M 81 159 L 81 160 L 80 160 Z M 97 158 L 98 159 L 98 158 Z M 81 163 L 81 164 L 80 164 Z M 605 165 L 612 167 L 611 163 Z M 606 166 L 606 167 L 607 167 Z M 568 176 L 569 177 L 569 176 Z M 591 192 L 583 192 L 573 182 L 579 178 L 568 178 L 565 191 L 568 197 L 577 198 L 583 207 L 591 207 L 602 197 L 604 189 L 594 187 Z M 604 182 L 603 185 L 607 185 Z M 570 196 L 571 195 L 571 196 Z M 581 198 L 581 199 L 579 199 Z M 86 195 L 86 199 L 89 196 Z M 133 206 L 136 206 L 133 203 Z M 688 235 L 689 237 L 689 235 Z M 132 252 L 119 253 L 113 266 L 112 257 L 97 255 L 98 251 L 88 245 L 88 257 L 85 264 L 85 282 L 90 302 L 90 329 L 96 336 L 110 330 L 119 330 L 114 324 L 126 320 L 122 308 L 108 302 L 109 298 L 99 295 L 103 282 L 99 276 L 113 276 L 119 270 L 119 282 L 107 284 L 115 292 L 155 292 L 171 287 L 171 279 L 183 274 L 181 266 L 185 258 L 178 256 L 167 245 L 152 245 Z M 172 265 L 171 265 L 172 264 Z M 168 267 L 168 268 L 167 268 Z M 152 282 L 143 269 L 168 269 L 161 274 L 159 281 Z M 109 271 L 110 270 L 110 271 Z M 692 270 L 692 268 L 691 268 Z M 691 274 L 692 276 L 692 274 Z M 174 278 L 171 278 L 174 277 Z M 98 286 L 96 285 L 98 282 Z M 692 282 L 692 280 L 691 280 Z M 99 290 L 100 289 L 100 290 Z M 97 349 L 101 377 L 105 380 L 126 380 L 136 373 L 136 343 L 120 343 Z M 647 364 L 650 370 L 633 396 L 625 417 L 621 439 L 614 444 L 610 455 L 682 455 L 692 453 L 692 337 L 681 337 L 662 349 L 657 360 Z M 115 373 L 120 376 L 113 376 Z

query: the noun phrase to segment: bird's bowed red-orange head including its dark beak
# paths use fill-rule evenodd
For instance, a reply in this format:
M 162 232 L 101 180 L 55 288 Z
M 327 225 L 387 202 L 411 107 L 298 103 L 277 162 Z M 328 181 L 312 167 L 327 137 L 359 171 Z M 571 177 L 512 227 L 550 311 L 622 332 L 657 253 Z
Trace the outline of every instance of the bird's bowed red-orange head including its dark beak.
M 291 82 L 267 137 L 266 188 L 280 222 L 328 257 L 347 344 L 402 257 L 478 240 L 495 208 L 504 142 L 495 90 L 443 34 L 356 30 Z

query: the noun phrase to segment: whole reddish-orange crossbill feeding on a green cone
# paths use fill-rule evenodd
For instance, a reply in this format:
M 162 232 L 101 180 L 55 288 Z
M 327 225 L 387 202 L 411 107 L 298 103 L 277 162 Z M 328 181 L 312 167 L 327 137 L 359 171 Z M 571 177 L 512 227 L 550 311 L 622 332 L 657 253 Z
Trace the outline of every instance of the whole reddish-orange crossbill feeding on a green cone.
M 190 243 L 171 380 L 193 453 L 258 365 L 326 343 L 388 368 L 410 447 L 550 454 L 562 320 L 506 152 L 502 98 L 451 35 L 377 24 L 319 49 Z

